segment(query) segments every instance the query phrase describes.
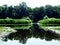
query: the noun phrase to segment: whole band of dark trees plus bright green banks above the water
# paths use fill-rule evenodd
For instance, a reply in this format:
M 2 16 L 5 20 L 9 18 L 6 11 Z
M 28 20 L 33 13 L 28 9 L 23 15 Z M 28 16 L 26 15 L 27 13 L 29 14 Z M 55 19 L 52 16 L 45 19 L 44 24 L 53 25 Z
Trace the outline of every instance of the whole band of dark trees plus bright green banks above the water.
M 16 6 L 0 6 L 0 24 L 31 24 L 60 26 L 60 6 L 31 8 L 25 2 Z M 10 25 L 9 25 L 10 26 Z

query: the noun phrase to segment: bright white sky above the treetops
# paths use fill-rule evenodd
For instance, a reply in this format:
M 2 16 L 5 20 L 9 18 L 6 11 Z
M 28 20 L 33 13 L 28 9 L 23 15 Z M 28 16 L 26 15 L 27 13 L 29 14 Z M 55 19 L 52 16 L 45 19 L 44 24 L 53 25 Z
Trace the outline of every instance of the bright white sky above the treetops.
M 0 6 L 7 4 L 10 5 L 19 5 L 21 2 L 26 2 L 29 7 L 40 7 L 45 5 L 56 6 L 60 4 L 60 0 L 0 0 Z

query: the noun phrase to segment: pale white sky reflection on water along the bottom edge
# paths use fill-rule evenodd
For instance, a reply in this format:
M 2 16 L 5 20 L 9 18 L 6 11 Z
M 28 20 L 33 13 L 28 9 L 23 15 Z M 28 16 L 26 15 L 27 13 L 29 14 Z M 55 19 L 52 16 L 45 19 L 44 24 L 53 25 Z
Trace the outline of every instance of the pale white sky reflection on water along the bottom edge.
M 46 41 L 40 38 L 30 38 L 25 44 L 19 43 L 19 40 L 8 40 L 7 42 L 0 40 L 0 45 L 60 45 L 60 41 Z

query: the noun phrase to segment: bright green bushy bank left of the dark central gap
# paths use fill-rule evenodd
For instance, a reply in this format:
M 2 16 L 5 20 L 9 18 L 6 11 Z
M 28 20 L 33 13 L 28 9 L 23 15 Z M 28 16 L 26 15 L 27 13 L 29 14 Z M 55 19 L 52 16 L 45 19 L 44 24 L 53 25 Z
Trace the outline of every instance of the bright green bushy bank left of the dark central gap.
M 30 24 L 32 21 L 30 19 L 0 19 L 0 24 Z

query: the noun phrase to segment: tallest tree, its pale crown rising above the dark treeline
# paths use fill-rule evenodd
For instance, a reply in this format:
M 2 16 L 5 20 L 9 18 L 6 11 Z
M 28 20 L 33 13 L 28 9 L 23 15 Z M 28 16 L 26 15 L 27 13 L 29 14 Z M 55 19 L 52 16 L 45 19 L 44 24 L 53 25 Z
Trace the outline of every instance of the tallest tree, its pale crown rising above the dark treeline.
M 27 10 L 27 5 L 26 5 L 26 3 L 25 2 L 22 2 L 20 5 L 19 5 L 19 15 L 20 16 L 22 16 L 22 17 L 26 17 L 26 16 L 28 16 L 29 15 L 29 12 L 28 12 L 28 10 Z

